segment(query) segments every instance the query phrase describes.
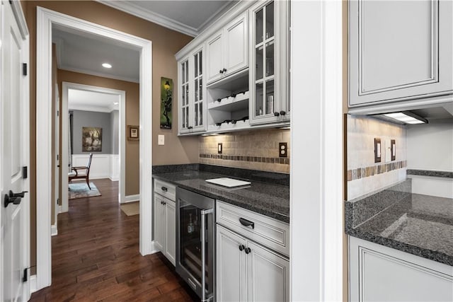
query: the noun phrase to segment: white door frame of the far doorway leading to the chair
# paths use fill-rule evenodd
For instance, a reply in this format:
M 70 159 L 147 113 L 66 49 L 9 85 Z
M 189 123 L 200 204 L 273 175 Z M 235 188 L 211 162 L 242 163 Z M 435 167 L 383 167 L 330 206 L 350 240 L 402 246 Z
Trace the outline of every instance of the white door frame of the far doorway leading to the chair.
M 118 187 L 118 203 L 125 202 L 126 198 L 126 137 L 125 137 L 125 129 L 126 129 L 126 91 L 121 91 L 113 88 L 104 88 L 98 86 L 90 86 L 80 83 L 69 83 L 69 82 L 62 82 L 62 154 L 60 154 L 60 161 L 62 163 L 62 188 L 68 187 L 68 178 L 64 177 L 63 175 L 67 175 L 69 173 L 69 161 L 67 158 L 67 154 L 69 153 L 69 141 L 68 136 L 64 135 L 65 129 L 68 129 L 68 116 L 67 112 L 68 109 L 68 91 L 69 89 L 77 89 L 80 91 L 92 91 L 96 93 L 106 93 L 111 95 L 118 95 L 118 101 L 120 103 L 120 120 L 118 125 L 118 144 L 120 144 L 120 185 Z M 62 156 L 63 155 L 63 156 Z M 69 210 L 69 198 L 68 198 L 68 191 L 62 190 L 62 211 L 67 212 Z

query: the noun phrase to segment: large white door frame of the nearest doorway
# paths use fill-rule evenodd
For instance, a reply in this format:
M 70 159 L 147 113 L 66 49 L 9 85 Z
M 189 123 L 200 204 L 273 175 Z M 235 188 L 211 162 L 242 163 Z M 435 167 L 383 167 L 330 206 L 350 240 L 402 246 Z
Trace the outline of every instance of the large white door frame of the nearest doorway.
M 52 167 L 50 146 L 52 96 L 52 25 L 63 25 L 95 35 L 124 42 L 140 51 L 140 113 L 139 134 L 139 251 L 142 255 L 154 252 L 152 234 L 152 42 L 103 25 L 91 23 L 63 13 L 37 7 L 36 33 L 36 289 L 52 283 L 52 246 L 50 194 Z

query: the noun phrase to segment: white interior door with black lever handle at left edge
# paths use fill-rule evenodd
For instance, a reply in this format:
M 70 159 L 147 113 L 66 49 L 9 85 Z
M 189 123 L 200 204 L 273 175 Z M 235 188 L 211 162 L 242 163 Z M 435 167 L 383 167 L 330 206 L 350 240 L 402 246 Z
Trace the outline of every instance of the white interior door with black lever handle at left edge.
M 23 166 L 28 162 L 28 104 L 23 86 L 25 42 L 16 23 L 12 4 L 1 2 L 1 282 L 0 301 L 26 301 L 23 272 L 28 262 L 28 195 Z M 28 51 L 28 48 L 25 50 Z M 24 88 L 25 87 L 25 88 Z M 25 108 L 24 108 L 25 106 Z M 11 192 L 11 193 L 10 193 Z M 14 195 L 16 193 L 16 195 Z M 11 202 L 6 204 L 6 202 Z

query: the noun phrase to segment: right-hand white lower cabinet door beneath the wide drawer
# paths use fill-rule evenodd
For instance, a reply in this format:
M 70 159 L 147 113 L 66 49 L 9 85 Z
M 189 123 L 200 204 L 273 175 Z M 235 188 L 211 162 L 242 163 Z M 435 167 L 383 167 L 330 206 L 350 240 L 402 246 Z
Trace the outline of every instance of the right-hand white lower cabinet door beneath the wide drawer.
M 248 242 L 248 301 L 289 301 L 289 261 Z

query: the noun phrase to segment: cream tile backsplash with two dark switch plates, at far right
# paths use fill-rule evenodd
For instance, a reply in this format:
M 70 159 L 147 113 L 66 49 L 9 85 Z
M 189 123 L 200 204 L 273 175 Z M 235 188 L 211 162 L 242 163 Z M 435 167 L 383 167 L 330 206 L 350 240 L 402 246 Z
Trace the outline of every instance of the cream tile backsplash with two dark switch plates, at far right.
M 348 200 L 406 179 L 406 127 L 374 117 L 348 115 Z M 381 162 L 374 163 L 374 139 L 381 139 Z M 390 141 L 396 141 L 391 161 Z

